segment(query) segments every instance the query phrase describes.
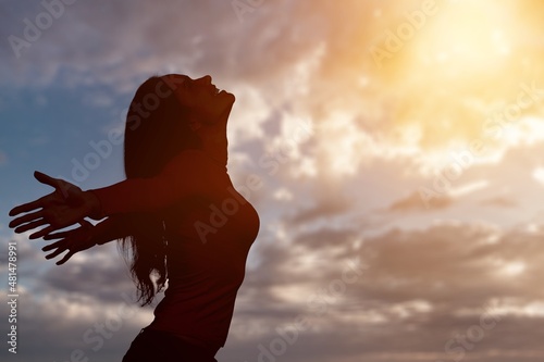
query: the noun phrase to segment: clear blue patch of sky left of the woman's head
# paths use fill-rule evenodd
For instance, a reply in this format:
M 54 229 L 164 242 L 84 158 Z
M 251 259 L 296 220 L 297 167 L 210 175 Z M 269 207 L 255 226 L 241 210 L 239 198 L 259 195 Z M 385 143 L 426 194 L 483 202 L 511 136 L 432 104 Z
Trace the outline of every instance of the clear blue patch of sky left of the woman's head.
M 110 104 L 88 102 L 89 95 L 98 93 L 111 97 Z M 96 153 L 91 141 L 108 140 L 108 130 L 122 124 L 129 98 L 107 87 L 51 86 L 3 88 L 0 100 L 0 151 L 7 155 L 0 165 L 0 225 L 4 226 L 0 233 L 4 234 L 11 208 L 52 190 L 34 179 L 34 171 L 75 180 L 74 160 L 84 163 L 87 154 Z M 88 189 L 121 180 L 122 154 L 122 145 L 112 145 L 111 154 L 99 157 L 99 166 L 87 170 L 87 177 L 77 179 L 78 185 Z

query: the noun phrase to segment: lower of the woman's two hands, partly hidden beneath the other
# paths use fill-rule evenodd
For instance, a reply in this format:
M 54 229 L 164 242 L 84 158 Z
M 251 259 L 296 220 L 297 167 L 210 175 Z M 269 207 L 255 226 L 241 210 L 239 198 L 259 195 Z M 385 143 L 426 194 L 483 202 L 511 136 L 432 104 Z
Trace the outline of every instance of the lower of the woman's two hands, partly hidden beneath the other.
M 52 259 L 67 250 L 69 252 L 55 263 L 57 265 L 61 265 L 67 262 L 69 259 L 76 252 L 87 250 L 97 245 L 94 235 L 96 226 L 92 226 L 92 224 L 86 220 L 79 222 L 79 224 L 82 226 L 78 228 L 57 234 L 49 234 L 44 237 L 45 240 L 61 239 L 41 248 L 44 251 L 57 249 L 50 254 L 47 254 L 46 259 Z

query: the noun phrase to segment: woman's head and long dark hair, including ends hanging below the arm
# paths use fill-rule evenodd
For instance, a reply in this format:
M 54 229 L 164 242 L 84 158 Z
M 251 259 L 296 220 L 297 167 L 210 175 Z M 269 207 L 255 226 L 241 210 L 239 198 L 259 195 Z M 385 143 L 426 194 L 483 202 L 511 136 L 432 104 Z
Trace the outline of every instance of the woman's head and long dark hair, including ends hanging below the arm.
M 226 125 L 233 103 L 234 96 L 218 91 L 209 76 L 191 79 L 170 74 L 144 82 L 126 115 L 126 177 L 152 177 L 180 152 L 208 145 L 206 138 Z M 123 247 L 131 249 L 139 298 L 148 304 L 166 280 L 164 223 L 150 212 L 131 219 L 133 234 L 123 239 Z

